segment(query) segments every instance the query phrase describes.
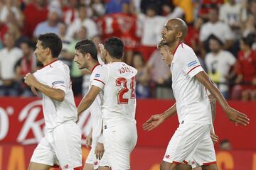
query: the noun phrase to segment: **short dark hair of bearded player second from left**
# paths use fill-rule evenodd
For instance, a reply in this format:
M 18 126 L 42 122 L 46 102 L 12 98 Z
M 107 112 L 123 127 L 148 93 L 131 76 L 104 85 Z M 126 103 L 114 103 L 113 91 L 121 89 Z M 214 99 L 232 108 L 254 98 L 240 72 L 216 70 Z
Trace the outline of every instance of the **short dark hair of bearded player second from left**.
M 76 43 L 75 50 L 80 51 L 82 55 L 89 53 L 94 60 L 97 60 L 97 47 L 92 40 L 81 40 Z

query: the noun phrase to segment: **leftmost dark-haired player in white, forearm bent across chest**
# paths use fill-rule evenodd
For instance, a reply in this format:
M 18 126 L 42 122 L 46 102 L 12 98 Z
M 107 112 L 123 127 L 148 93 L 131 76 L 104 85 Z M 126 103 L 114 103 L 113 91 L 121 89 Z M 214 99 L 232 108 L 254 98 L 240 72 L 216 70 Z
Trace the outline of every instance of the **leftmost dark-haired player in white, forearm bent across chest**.
M 43 64 L 34 74 L 26 74 L 25 83 L 34 94 L 43 94 L 45 136 L 31 157 L 29 170 L 50 169 L 58 164 L 61 169 L 81 169 L 81 132 L 75 123 L 77 109 L 70 82 L 70 70 L 58 60 L 62 42 L 58 35 L 46 33 L 38 37 L 35 55 Z

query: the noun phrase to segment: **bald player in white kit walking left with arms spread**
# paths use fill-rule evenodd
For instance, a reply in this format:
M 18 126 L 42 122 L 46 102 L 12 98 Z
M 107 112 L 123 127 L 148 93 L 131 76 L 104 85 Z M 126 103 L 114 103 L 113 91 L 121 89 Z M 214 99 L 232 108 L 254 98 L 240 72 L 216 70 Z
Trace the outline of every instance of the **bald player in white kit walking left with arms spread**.
M 206 89 L 220 103 L 228 118 L 235 124 L 247 125 L 247 115 L 231 108 L 220 91 L 203 71 L 195 53 L 183 43 L 188 27 L 179 18 L 166 22 L 162 31 L 163 42 L 174 55 L 163 60 L 171 67 L 172 88 L 176 104 L 159 115 L 152 115 L 144 123 L 144 130 L 151 130 L 164 122 L 174 113 L 178 113 L 179 126 L 166 149 L 161 162 L 161 170 L 174 170 L 181 162 L 193 158 L 202 169 L 218 169 L 213 142 L 210 140 L 210 103 Z M 171 60 L 171 62 L 170 62 Z

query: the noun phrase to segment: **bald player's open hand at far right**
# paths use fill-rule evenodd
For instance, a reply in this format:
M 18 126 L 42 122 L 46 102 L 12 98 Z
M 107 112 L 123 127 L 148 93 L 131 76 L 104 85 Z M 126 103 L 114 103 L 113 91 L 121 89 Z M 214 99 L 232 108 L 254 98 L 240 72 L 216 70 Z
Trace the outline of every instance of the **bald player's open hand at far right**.
M 248 125 L 250 119 L 245 115 L 244 113 L 240 113 L 239 111 L 236 111 L 234 108 L 228 107 L 228 109 L 225 110 L 225 113 L 227 113 L 228 118 L 235 123 L 235 125 Z

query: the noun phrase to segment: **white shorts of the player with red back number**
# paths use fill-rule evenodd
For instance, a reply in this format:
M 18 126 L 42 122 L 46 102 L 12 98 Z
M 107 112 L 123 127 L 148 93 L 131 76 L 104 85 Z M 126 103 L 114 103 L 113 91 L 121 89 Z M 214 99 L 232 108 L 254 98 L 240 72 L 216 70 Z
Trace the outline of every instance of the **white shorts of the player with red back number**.
M 103 130 L 105 154 L 112 170 L 130 169 L 130 154 L 137 143 L 137 128 L 131 123 Z

